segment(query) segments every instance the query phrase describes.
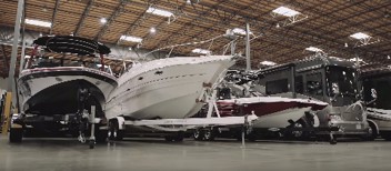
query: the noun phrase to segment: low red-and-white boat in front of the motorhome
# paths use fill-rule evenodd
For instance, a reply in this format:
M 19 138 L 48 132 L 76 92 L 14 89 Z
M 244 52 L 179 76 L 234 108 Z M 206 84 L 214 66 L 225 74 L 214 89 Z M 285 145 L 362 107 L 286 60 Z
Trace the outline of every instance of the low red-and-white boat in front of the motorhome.
M 255 114 L 253 128 L 287 128 L 308 111 L 322 110 L 325 102 L 281 97 L 251 97 L 217 101 L 220 117 Z

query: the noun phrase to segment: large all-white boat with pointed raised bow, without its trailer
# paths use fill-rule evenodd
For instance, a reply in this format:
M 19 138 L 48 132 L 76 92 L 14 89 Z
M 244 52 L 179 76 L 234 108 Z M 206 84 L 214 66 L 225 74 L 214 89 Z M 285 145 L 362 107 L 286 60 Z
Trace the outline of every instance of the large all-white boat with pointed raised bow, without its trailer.
M 118 79 L 106 105 L 108 119 L 183 119 L 203 105 L 205 84 L 214 84 L 234 63 L 232 56 L 176 57 L 132 67 Z

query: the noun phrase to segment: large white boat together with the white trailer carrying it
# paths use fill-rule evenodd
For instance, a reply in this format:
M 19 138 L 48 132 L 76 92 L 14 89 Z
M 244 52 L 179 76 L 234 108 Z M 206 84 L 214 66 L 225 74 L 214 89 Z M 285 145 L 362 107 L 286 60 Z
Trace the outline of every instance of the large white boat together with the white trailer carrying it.
M 127 128 L 148 132 L 178 132 L 205 124 L 243 124 L 243 117 L 197 119 L 205 97 L 221 81 L 234 56 L 176 57 L 133 66 L 118 79 L 106 114 L 109 139 L 121 140 Z M 182 134 L 167 135 L 181 141 Z

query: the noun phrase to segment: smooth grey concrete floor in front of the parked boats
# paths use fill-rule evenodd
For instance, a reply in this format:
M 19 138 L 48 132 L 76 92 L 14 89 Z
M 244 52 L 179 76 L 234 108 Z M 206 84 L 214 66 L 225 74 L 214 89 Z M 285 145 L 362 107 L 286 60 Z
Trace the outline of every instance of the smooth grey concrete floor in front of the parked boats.
M 90 150 L 73 139 L 26 139 L 9 144 L 0 137 L 0 171 L 243 171 L 391 170 L 391 142 L 248 142 L 234 140 L 168 143 L 129 139 Z

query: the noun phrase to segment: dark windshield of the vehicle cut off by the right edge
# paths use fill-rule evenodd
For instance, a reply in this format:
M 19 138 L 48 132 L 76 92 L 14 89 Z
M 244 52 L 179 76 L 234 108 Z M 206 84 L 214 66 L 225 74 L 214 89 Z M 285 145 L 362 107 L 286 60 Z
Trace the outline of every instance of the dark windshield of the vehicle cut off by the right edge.
M 364 101 L 373 100 L 371 89 L 377 91 L 378 99 L 369 103 L 368 107 L 391 110 L 391 73 L 373 76 L 363 80 Z

